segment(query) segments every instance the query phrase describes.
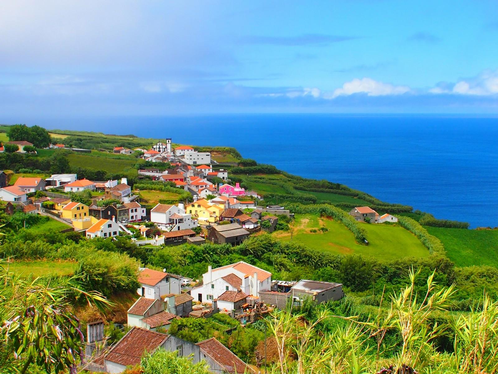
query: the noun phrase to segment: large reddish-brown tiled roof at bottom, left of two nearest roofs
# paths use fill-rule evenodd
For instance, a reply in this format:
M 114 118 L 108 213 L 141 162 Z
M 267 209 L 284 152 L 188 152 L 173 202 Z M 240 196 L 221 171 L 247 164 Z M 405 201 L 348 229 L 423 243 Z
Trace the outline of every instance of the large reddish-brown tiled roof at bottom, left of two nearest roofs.
M 140 364 L 144 352 L 153 352 L 168 335 L 133 327 L 105 356 L 105 360 L 124 366 Z

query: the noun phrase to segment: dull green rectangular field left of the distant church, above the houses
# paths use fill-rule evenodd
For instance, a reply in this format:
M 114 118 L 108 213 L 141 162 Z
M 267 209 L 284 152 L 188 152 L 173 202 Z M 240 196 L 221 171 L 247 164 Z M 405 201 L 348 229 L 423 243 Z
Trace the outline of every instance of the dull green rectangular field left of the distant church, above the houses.
M 133 168 L 138 161 L 135 158 L 116 159 L 104 157 L 87 156 L 83 154 L 69 154 L 67 156 L 69 164 L 76 168 L 104 170 L 109 173 L 130 173 L 137 174 L 137 170 Z

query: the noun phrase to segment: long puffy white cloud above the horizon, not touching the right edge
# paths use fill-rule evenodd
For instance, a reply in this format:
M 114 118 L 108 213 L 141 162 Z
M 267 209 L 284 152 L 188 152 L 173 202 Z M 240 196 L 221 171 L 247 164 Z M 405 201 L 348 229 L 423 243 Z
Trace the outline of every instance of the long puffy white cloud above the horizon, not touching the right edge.
M 355 93 L 366 93 L 368 96 L 401 95 L 409 92 L 407 86 L 394 86 L 389 83 L 378 82 L 372 78 L 355 78 L 343 84 L 342 88 L 334 90 L 332 95 L 328 94 L 327 99 L 334 99 L 341 95 L 353 95 Z

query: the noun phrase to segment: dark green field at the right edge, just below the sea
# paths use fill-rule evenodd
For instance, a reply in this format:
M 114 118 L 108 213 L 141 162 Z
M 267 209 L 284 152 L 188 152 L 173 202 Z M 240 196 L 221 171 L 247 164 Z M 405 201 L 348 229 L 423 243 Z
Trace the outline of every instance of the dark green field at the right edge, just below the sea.
M 498 230 L 424 227 L 443 242 L 446 255 L 455 265 L 498 267 Z

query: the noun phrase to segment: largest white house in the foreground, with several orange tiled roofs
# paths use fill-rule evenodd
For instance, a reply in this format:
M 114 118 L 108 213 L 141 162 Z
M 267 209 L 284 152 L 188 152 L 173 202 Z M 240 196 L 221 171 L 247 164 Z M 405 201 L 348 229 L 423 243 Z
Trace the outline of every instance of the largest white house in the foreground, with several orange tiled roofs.
M 257 297 L 259 291 L 271 288 L 271 273 L 244 261 L 217 269 L 212 269 L 209 265 L 208 272 L 202 278 L 202 286 L 193 288 L 191 295 L 200 302 L 218 299 L 220 309 L 232 310 L 230 308 L 237 307 L 237 303 L 242 301 L 239 298 Z M 227 291 L 229 292 L 222 296 Z

